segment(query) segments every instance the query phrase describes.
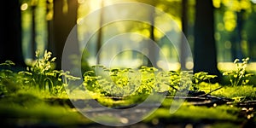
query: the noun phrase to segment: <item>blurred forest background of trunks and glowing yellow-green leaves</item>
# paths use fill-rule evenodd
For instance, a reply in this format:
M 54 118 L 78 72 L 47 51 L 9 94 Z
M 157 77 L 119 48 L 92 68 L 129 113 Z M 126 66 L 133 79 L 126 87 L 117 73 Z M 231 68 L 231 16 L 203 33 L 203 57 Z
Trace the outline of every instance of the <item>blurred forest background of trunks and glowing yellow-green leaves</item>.
M 219 74 L 219 71 L 230 70 L 232 62 L 238 58 L 250 57 L 248 70 L 255 70 L 256 61 L 256 0 L 12 0 L 3 1 L 1 8 L 1 50 L 0 61 L 15 61 L 17 66 L 24 67 L 35 59 L 35 51 L 44 53 L 47 49 L 57 57 L 56 68 L 61 69 L 61 54 L 69 32 L 73 26 L 78 25 L 78 43 L 74 48 L 79 48 L 84 43 L 86 34 L 90 34 L 90 27 L 79 25 L 84 16 L 101 9 L 104 6 L 122 2 L 139 2 L 150 4 L 164 11 L 177 23 L 177 27 L 169 26 L 171 23 L 165 17 L 152 16 L 154 10 L 143 12 L 152 23 L 166 26 L 166 32 L 177 34 L 183 31 L 189 42 L 194 58 L 189 58 L 183 51 L 183 38 L 180 47 L 173 46 L 165 34 L 147 23 L 123 20 L 114 22 L 99 29 L 90 38 L 88 49 L 83 52 L 82 62 L 84 70 L 90 65 L 104 63 L 113 59 L 113 67 L 140 67 L 152 66 L 152 61 L 137 51 L 127 50 L 119 53 L 114 58 L 108 58 L 108 53 L 103 51 L 96 60 L 96 53 L 101 46 L 118 33 L 136 32 L 144 38 L 130 38 L 127 40 L 115 40 L 119 42 L 108 51 L 121 49 L 129 42 L 145 41 L 150 38 L 157 43 L 163 55 L 170 62 L 172 70 L 194 69 L 195 72 L 205 71 Z M 132 7 L 131 7 L 132 8 Z M 134 12 L 125 12 L 137 15 L 140 9 L 132 9 Z M 113 16 L 120 9 L 104 12 L 96 15 L 97 20 L 91 20 L 92 24 L 101 26 L 102 20 Z M 154 18 L 152 18 L 154 17 Z M 161 67 L 161 56 L 158 51 L 142 45 L 145 52 L 155 55 L 154 61 L 157 67 Z M 153 52 L 154 53 L 150 53 Z M 194 61 L 193 61 L 194 60 Z M 131 64 L 132 61 L 132 64 Z M 255 65 L 255 66 L 254 66 Z

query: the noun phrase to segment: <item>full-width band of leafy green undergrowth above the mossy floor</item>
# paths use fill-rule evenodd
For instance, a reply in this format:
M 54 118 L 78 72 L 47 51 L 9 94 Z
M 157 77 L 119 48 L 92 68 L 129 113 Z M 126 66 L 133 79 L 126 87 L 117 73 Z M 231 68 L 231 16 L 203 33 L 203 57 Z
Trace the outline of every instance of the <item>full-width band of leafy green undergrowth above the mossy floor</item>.
M 66 96 L 65 87 L 68 81 L 79 78 L 73 77 L 68 71 L 55 70 L 53 64 L 56 58 L 52 57 L 51 52 L 47 50 L 44 51 L 43 56 L 40 56 L 37 51 L 36 57 L 31 67 L 19 73 L 11 70 L 15 65 L 12 61 L 0 64 L 0 67 L 4 67 L 0 71 L 0 96 L 9 95 L 18 90 L 40 91 L 48 96 Z M 84 83 L 81 84 L 81 88 L 89 90 L 90 94 L 98 99 L 101 96 L 126 97 L 155 93 L 175 96 L 177 91 L 187 92 L 184 96 L 187 96 L 189 91 L 205 91 L 216 96 L 255 99 L 254 87 L 245 85 L 248 78 L 253 75 L 245 72 L 248 61 L 248 58 L 243 59 L 242 62 L 236 60 L 234 61 L 236 69 L 224 73 L 230 77 L 230 87 L 221 88 L 221 85 L 211 84 L 211 79 L 217 76 L 205 72 L 192 74 L 191 72 L 162 71 L 154 67 L 141 67 L 136 70 L 94 66 L 92 67 L 94 70 L 84 73 Z M 205 83 L 203 87 L 202 83 Z

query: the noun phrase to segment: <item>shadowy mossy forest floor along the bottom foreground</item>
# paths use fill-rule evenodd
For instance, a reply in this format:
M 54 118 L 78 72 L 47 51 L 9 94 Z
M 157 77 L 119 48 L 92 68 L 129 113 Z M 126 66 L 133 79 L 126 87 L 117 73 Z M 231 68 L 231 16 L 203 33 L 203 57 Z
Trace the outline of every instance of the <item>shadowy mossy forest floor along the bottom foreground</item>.
M 108 97 L 109 98 L 109 97 Z M 172 96 L 166 96 L 166 99 L 154 113 L 147 118 L 133 125 L 121 127 L 133 128 L 192 128 L 192 127 L 256 127 L 255 108 L 256 101 L 234 102 L 229 98 L 218 96 L 188 96 L 176 97 L 183 98 L 186 102 L 177 109 L 176 113 L 170 113 L 170 107 L 173 101 Z M 79 102 L 88 102 L 88 99 L 77 100 Z M 129 123 L 136 120 L 134 117 L 142 115 L 145 110 L 158 106 L 157 104 L 145 104 L 136 109 L 136 112 L 130 112 L 129 108 L 133 105 L 121 105 L 118 102 L 125 99 L 114 99 L 115 109 L 120 109 L 122 115 L 113 115 L 108 109 L 92 108 L 90 114 L 94 117 L 108 118 L 110 123 L 121 121 Z M 0 98 L 0 119 L 1 125 L 9 127 L 113 127 L 101 125 L 86 118 L 73 108 L 73 104 L 68 99 L 50 98 L 44 99 L 40 96 L 27 92 L 20 92 L 14 96 L 2 96 Z M 119 104 L 119 105 L 118 105 Z M 128 118 L 127 118 L 128 117 Z M 113 120 L 116 118 L 116 120 Z M 111 122 L 112 121 L 112 122 Z

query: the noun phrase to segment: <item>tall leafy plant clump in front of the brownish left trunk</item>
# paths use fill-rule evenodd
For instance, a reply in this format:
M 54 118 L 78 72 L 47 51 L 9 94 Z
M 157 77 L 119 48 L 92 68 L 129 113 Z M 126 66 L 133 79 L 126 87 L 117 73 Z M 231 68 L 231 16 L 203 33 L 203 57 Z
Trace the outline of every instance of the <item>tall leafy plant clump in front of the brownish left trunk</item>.
M 27 67 L 27 71 L 19 72 L 21 84 L 30 84 L 39 90 L 49 90 L 53 95 L 61 95 L 64 93 L 64 85 L 67 80 L 79 79 L 69 75 L 69 72 L 54 70 L 53 65 L 55 57 L 51 57 L 51 52 L 45 50 L 44 56 L 39 56 L 36 52 L 37 60 L 32 67 Z

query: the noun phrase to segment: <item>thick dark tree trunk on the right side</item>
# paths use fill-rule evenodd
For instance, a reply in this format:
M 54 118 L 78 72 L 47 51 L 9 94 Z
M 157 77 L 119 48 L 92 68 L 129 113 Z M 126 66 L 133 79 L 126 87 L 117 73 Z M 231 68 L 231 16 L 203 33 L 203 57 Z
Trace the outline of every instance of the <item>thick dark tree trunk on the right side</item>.
M 214 35 L 212 0 L 196 0 L 194 73 L 207 72 L 220 76 Z

